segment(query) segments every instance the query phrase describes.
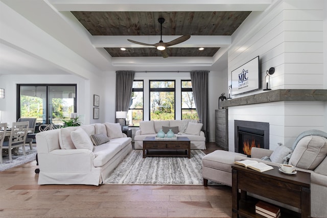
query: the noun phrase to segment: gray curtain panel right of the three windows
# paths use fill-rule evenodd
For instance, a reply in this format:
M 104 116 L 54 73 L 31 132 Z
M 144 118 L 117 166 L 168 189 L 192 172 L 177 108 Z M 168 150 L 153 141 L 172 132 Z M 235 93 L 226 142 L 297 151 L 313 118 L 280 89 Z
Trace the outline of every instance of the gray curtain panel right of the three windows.
M 208 74 L 209 71 L 191 71 L 192 90 L 199 121 L 203 124 L 203 132 L 208 141 Z

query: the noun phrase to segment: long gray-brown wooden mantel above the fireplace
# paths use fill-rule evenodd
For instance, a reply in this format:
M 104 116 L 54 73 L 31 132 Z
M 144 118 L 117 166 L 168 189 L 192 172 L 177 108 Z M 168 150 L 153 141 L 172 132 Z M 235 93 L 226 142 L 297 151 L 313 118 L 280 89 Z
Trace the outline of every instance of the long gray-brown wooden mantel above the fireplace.
M 269 102 L 327 101 L 327 89 L 277 89 L 221 102 L 222 107 Z

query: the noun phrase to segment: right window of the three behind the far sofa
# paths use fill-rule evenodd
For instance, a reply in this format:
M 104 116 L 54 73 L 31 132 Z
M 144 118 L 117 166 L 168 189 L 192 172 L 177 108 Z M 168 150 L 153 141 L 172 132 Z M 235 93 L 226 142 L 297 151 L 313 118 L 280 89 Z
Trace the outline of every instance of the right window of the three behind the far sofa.
M 181 81 L 181 95 L 182 119 L 199 119 L 196 112 L 191 80 Z

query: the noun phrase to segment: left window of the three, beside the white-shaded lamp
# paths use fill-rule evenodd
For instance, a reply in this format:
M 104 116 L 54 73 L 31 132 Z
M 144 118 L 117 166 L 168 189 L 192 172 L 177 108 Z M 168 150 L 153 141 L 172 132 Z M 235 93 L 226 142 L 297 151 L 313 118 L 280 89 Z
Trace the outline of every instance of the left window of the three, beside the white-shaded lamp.
M 134 80 L 132 88 L 131 106 L 127 113 L 129 126 L 139 126 L 143 120 L 143 80 Z

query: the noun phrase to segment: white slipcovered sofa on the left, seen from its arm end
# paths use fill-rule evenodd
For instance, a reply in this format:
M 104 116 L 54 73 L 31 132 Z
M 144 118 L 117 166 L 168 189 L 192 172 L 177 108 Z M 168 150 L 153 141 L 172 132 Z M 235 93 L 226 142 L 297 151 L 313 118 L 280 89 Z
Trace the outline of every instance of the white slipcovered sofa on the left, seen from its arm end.
M 132 151 L 131 138 L 111 123 L 40 132 L 36 144 L 40 185 L 99 185 Z

